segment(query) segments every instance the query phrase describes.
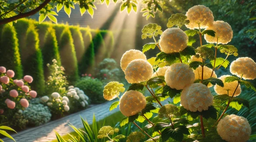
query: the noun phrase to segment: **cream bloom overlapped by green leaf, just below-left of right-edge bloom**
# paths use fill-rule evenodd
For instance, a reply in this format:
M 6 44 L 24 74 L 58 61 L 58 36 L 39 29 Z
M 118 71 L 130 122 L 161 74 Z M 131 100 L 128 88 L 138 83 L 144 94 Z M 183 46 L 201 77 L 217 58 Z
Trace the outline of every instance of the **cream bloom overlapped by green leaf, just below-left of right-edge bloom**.
M 235 96 L 238 96 L 241 93 L 241 86 L 240 84 L 237 87 L 238 82 L 233 81 L 233 82 L 224 82 L 225 78 L 228 77 L 229 75 L 224 75 L 219 77 L 218 79 L 222 80 L 224 83 L 224 87 L 218 86 L 217 84 L 214 86 L 214 90 L 217 94 L 223 95 L 223 94 L 228 94 L 229 96 L 232 96 L 234 94 Z M 237 87 L 236 91 L 235 88 Z

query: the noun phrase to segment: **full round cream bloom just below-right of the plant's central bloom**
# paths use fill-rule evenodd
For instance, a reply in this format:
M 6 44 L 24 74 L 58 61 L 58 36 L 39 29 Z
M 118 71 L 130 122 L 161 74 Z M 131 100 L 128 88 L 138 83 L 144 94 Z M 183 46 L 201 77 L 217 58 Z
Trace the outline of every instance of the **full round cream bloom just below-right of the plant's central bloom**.
M 213 103 L 210 89 L 202 83 L 193 83 L 185 87 L 181 92 L 180 103 L 189 111 L 208 110 Z

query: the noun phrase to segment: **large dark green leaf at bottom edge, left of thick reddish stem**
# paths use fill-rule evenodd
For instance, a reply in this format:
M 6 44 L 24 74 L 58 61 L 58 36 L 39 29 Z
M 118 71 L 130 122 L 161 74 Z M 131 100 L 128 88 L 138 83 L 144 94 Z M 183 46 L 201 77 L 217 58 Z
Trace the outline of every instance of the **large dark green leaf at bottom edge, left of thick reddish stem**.
M 161 138 L 163 142 L 166 142 L 169 138 L 182 142 L 183 134 L 189 135 L 189 129 L 185 125 L 178 125 L 175 129 L 165 128 L 161 134 Z

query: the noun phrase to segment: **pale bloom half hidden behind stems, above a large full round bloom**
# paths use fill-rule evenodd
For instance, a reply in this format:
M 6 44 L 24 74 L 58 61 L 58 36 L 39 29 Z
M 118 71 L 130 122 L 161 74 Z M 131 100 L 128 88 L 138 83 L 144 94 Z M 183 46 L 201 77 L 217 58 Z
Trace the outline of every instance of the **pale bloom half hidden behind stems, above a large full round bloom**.
M 202 79 L 202 69 L 203 69 L 203 79 L 206 80 L 206 79 L 210 78 L 212 69 L 208 68 L 207 66 L 203 66 L 203 68 L 202 68 L 202 66 L 199 66 L 198 68 L 196 68 L 196 70 L 194 70 L 195 80 Z M 216 73 L 213 72 L 211 77 L 217 78 Z M 212 87 L 212 84 L 208 83 L 207 87 Z

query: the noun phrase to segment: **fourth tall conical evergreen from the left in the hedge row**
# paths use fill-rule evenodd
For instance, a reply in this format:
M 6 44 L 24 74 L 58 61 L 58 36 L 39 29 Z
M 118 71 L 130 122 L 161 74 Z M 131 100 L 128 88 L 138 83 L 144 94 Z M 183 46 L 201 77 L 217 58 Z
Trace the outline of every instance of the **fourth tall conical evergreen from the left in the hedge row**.
M 67 80 L 72 84 L 78 79 L 78 68 L 76 51 L 69 27 L 64 28 L 60 36 L 59 47 L 61 64 L 65 68 Z

